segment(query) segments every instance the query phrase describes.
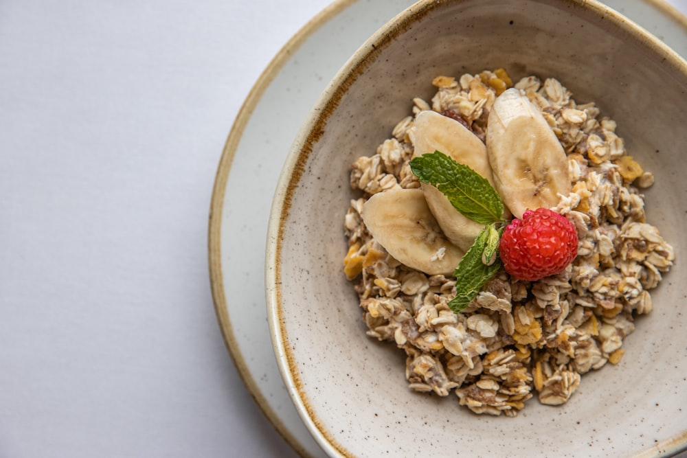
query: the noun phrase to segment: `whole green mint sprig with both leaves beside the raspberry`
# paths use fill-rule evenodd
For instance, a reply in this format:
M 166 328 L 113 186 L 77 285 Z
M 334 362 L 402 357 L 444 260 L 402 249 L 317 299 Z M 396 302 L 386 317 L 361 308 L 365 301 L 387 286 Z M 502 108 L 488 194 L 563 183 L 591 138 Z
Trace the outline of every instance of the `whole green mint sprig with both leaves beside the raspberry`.
M 453 273 L 455 297 L 449 307 L 460 313 L 502 267 L 498 253 L 505 228 L 504 203 L 484 176 L 440 151 L 413 158 L 410 168 L 421 183 L 435 186 L 466 218 L 485 225 Z

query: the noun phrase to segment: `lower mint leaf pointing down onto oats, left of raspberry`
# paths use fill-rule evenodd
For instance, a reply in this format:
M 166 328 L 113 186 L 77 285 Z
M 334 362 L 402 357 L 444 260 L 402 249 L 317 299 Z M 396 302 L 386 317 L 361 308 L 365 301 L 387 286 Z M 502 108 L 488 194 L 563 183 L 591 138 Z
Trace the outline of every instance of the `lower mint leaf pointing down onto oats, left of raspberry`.
M 465 310 L 477 297 L 477 293 L 480 293 L 482 286 L 501 268 L 502 263 L 497 253 L 503 230 L 503 227 L 497 229 L 496 223 L 484 227 L 455 268 L 453 275 L 456 292 L 455 297 L 449 301 L 449 307 L 453 312 L 460 313 Z M 491 264 L 485 264 L 483 258 L 491 261 Z

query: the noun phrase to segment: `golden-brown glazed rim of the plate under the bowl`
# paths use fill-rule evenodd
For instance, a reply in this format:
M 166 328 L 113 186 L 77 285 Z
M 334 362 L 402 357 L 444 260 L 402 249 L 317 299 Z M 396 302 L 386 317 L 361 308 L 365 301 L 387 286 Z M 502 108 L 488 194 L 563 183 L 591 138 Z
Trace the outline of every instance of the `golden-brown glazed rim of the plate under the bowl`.
M 210 286 L 212 289 L 214 309 L 223 339 L 225 341 L 225 346 L 227 347 L 229 354 L 232 356 L 232 360 L 234 361 L 234 365 L 238 370 L 239 376 L 243 379 L 243 382 L 251 394 L 251 397 L 254 399 L 256 404 L 258 404 L 258 407 L 264 416 L 267 417 L 267 420 L 273 424 L 275 429 L 284 438 L 284 440 L 286 440 L 286 442 L 293 447 L 295 452 L 304 458 L 308 458 L 311 455 L 306 452 L 302 444 L 300 444 L 293 434 L 291 434 L 289 428 L 282 422 L 282 420 L 280 420 L 280 417 L 278 417 L 275 411 L 271 409 L 264 394 L 260 392 L 260 387 L 258 387 L 256 380 L 253 378 L 253 376 L 251 376 L 243 354 L 241 354 L 238 350 L 231 317 L 229 317 L 229 313 L 227 312 L 227 295 L 225 295 L 225 290 L 223 288 L 223 270 L 221 262 L 221 220 L 225 192 L 229 179 L 229 172 L 232 168 L 232 162 L 234 160 L 234 155 L 236 154 L 240 139 L 243 137 L 245 127 L 253 115 L 258 102 L 264 95 L 264 92 L 267 91 L 267 88 L 270 86 L 271 82 L 273 82 L 279 71 L 282 69 L 282 67 L 284 67 L 286 62 L 288 62 L 289 58 L 291 58 L 293 52 L 295 52 L 308 37 L 316 32 L 319 27 L 322 27 L 322 25 L 330 21 L 330 19 L 333 19 L 335 16 L 337 16 L 337 14 L 339 14 L 341 11 L 348 8 L 355 1 L 357 0 L 333 1 L 333 3 L 319 12 L 319 14 L 314 16 L 313 19 L 308 21 L 308 23 L 306 23 L 298 32 L 296 32 L 296 34 L 282 47 L 282 49 L 280 49 L 278 54 L 273 57 L 264 71 L 262 71 L 260 77 L 251 88 L 251 91 L 249 91 L 247 98 L 243 102 L 243 105 L 238 112 L 238 115 L 236 115 L 231 130 L 229 130 L 229 135 L 218 163 L 210 203 L 208 225 L 208 261 L 210 268 Z M 572 1 L 573 3 L 584 3 L 576 0 Z M 653 5 L 655 9 L 659 10 L 665 16 L 668 16 L 679 23 L 679 25 L 684 27 L 684 29 L 687 31 L 687 16 L 684 16 L 682 13 L 680 13 L 675 7 L 673 7 L 673 5 L 666 3 L 664 0 L 644 1 Z M 615 13 L 613 12 L 613 14 Z M 301 155 L 302 154 L 303 152 L 301 152 Z M 302 161 L 304 161 L 306 158 L 307 154 L 302 158 Z M 297 183 L 297 180 L 293 181 L 289 187 L 295 185 L 295 183 Z M 286 217 L 287 215 L 288 210 L 282 214 L 282 218 Z M 283 331 L 284 330 L 282 329 L 282 332 Z M 299 390 L 299 392 L 300 395 L 303 394 L 302 391 Z M 312 413 L 312 411 L 308 409 L 308 413 Z M 324 431 L 322 431 L 322 428 L 318 429 L 323 435 L 325 435 Z M 331 439 L 330 437 L 326 438 L 328 440 Z M 682 442 L 684 439 L 685 437 L 683 436 L 677 437 L 665 445 L 676 446 L 677 442 Z M 330 444 L 333 444 L 333 442 L 330 442 Z M 341 450 L 340 448 L 339 451 L 345 453 L 345 451 Z M 350 456 L 350 454 L 346 453 L 345 455 Z

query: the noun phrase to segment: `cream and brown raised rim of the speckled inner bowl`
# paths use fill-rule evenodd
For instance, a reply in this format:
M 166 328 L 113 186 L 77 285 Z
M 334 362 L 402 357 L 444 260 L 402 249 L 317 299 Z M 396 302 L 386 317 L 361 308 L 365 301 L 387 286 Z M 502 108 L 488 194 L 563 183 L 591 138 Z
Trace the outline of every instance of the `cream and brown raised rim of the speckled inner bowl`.
M 390 21 L 387 21 L 368 38 L 359 49 L 347 60 L 330 81 L 322 95 L 319 96 L 311 114 L 302 124 L 296 139 L 293 142 L 284 162 L 282 172 L 276 185 L 273 202 L 270 209 L 267 244 L 265 250 L 265 299 L 267 304 L 267 318 L 272 337 L 273 349 L 284 385 L 293 401 L 297 412 L 304 424 L 311 432 L 317 443 L 330 457 L 354 457 L 345 446 L 339 444 L 321 426 L 320 420 L 311 405 L 308 395 L 295 369 L 293 354 L 289 350 L 289 336 L 284 327 L 283 295 L 280 269 L 282 258 L 282 244 L 284 241 L 284 229 L 289 218 L 291 204 L 295 190 L 306 172 L 306 163 L 311 157 L 313 147 L 321 137 L 326 127 L 328 118 L 333 114 L 343 95 L 357 78 L 375 62 L 387 45 L 394 39 L 409 30 L 412 25 L 431 13 L 436 8 L 442 8 L 447 3 L 470 3 L 479 0 L 419 0 L 414 5 L 399 12 Z M 687 77 L 687 61 L 679 56 L 676 51 L 668 47 L 659 38 L 644 30 L 640 25 L 613 10 L 597 0 L 531 0 L 539 3 L 556 5 L 572 5 L 587 12 L 602 16 L 607 22 L 622 32 L 635 38 L 638 43 L 648 48 L 649 51 L 660 56 L 664 65 L 673 67 L 673 70 Z M 657 0 L 649 0 L 657 1 Z M 669 6 L 669 5 L 668 5 Z M 562 6 L 559 6 L 562 8 Z M 687 21 L 686 21 L 687 25 Z M 687 428 L 679 435 L 665 439 L 654 444 L 653 448 L 645 450 L 638 457 L 653 456 L 655 450 L 660 447 L 668 450 L 668 453 L 677 453 L 687 450 Z

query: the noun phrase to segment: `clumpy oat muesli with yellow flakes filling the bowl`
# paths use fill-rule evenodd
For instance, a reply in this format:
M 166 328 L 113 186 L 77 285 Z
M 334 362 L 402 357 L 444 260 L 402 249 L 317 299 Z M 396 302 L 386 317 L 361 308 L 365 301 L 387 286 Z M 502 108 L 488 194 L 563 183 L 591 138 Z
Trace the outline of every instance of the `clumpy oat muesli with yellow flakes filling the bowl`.
M 563 404 L 583 374 L 620 361 L 635 317 L 651 311 L 649 291 L 673 264 L 673 248 L 646 222 L 640 189 L 653 184 L 653 175 L 627 154 L 616 123 L 594 103 L 576 103 L 552 78 L 516 82 L 567 153 L 572 192 L 554 210 L 574 223 L 578 256 L 562 273 L 537 282 L 501 271 L 455 314 L 447 305 L 455 279 L 404 266 L 361 218 L 372 194 L 420 187 L 409 168 L 415 115 L 450 115 L 484 141 L 489 109 L 513 83 L 499 69 L 439 76 L 433 85 L 430 103 L 414 99 L 413 114 L 392 137 L 352 164 L 350 185 L 360 197 L 345 217 L 344 272 L 359 295 L 367 334 L 405 351 L 410 388 L 438 396 L 453 391 L 475 413 L 515 416 L 535 393 L 543 404 Z

